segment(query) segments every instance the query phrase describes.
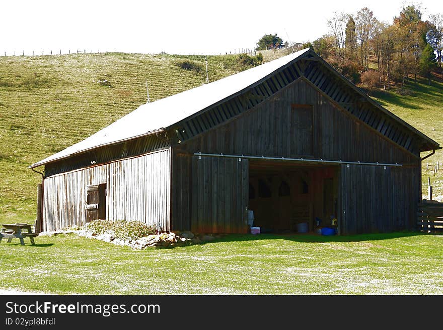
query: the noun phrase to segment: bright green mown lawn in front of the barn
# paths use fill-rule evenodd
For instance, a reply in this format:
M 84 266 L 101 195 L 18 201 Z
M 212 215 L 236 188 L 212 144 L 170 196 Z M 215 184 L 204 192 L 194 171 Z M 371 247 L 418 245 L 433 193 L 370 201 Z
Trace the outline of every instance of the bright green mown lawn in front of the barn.
M 438 235 L 229 235 L 143 251 L 76 234 L 37 237 L 36 243 L 0 244 L 3 288 L 56 294 L 443 293 Z

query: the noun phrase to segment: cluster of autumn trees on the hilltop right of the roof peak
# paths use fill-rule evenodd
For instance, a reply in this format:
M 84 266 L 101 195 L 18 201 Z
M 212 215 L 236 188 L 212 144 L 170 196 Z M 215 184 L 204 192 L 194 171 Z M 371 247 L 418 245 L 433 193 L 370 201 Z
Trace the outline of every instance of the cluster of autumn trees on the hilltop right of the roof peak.
M 419 5 L 405 6 L 391 23 L 380 22 L 369 8 L 355 14 L 333 13 L 329 33 L 306 43 L 351 81 L 389 89 L 417 75 L 431 78 L 443 61 L 443 16 L 422 20 Z M 435 56 L 436 55 L 436 56 Z M 370 71 L 368 73 L 365 73 Z

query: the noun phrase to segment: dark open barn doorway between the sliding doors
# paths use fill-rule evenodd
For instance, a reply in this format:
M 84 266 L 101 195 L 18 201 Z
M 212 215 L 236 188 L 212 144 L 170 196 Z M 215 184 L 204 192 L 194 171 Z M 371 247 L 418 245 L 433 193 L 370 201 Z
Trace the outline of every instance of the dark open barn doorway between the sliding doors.
M 314 232 L 338 218 L 338 166 L 251 160 L 249 209 L 261 233 Z

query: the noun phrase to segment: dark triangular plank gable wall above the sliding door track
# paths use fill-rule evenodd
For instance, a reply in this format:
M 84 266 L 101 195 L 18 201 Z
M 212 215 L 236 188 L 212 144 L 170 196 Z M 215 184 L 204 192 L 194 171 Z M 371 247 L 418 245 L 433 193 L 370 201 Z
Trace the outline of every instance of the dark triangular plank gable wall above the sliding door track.
M 294 106 L 300 104 L 312 105 L 312 127 L 306 109 Z M 300 125 L 304 118 L 305 125 Z M 312 135 L 307 134 L 309 129 Z M 189 152 L 343 161 L 410 163 L 417 158 L 340 109 L 303 79 L 227 124 L 178 146 Z

